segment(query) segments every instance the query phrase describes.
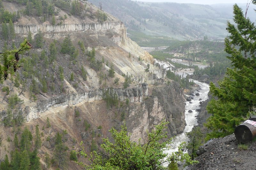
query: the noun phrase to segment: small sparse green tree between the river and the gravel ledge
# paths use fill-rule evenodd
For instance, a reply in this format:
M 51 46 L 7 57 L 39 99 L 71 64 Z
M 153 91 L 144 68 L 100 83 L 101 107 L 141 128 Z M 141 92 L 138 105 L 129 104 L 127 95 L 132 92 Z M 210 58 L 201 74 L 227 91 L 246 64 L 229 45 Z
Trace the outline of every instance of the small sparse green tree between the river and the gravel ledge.
M 191 156 L 192 160 L 197 157 L 196 151 L 199 146 L 202 145 L 203 134 L 200 127 L 194 127 L 190 132 L 186 132 L 185 135 L 189 138 L 189 142 L 186 146 L 188 149 L 188 154 Z

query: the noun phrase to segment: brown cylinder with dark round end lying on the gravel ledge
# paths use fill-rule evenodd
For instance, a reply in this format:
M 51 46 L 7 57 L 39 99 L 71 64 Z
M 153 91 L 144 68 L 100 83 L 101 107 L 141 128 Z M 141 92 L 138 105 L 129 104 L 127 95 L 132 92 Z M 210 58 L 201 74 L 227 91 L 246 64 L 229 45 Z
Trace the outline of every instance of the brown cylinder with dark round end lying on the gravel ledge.
M 245 144 L 256 136 L 256 116 L 252 116 L 249 120 L 240 124 L 235 129 L 236 140 Z

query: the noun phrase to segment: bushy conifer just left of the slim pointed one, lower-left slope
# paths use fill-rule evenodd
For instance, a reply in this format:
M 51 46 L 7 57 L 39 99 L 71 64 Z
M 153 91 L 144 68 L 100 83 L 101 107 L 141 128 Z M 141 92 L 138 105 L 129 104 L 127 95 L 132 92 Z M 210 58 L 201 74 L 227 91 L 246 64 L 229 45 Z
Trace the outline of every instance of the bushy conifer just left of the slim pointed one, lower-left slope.
M 28 127 L 26 126 L 23 130 L 20 138 L 20 149 L 21 151 L 29 151 L 31 148 L 31 141 L 33 139 L 33 136 L 31 132 L 28 130 Z

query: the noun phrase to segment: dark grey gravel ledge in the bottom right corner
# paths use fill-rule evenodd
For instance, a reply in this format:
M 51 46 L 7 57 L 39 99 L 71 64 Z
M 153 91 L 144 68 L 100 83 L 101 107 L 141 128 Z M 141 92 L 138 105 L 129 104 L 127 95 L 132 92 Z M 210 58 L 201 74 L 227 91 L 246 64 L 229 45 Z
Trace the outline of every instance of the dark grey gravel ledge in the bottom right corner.
M 256 170 L 256 142 L 248 143 L 248 149 L 238 148 L 235 135 L 217 138 L 204 144 L 204 152 L 196 160 L 198 164 L 186 170 Z

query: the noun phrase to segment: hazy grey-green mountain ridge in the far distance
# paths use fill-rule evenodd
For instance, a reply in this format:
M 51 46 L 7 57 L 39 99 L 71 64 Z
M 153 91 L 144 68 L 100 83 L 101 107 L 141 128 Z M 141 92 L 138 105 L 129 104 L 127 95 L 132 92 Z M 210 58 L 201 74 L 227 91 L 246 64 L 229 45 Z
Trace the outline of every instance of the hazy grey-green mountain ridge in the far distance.
M 178 40 L 222 41 L 227 35 L 227 20 L 232 21 L 233 4 L 148 3 L 130 0 L 89 0 L 102 4 L 102 9 L 120 18 L 128 30 L 151 36 L 168 36 Z M 250 4 L 247 17 L 253 15 Z M 240 5 L 243 9 L 246 4 Z M 255 6 L 255 5 L 254 5 Z

